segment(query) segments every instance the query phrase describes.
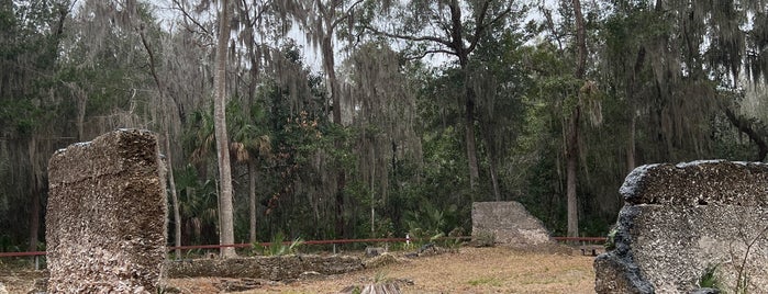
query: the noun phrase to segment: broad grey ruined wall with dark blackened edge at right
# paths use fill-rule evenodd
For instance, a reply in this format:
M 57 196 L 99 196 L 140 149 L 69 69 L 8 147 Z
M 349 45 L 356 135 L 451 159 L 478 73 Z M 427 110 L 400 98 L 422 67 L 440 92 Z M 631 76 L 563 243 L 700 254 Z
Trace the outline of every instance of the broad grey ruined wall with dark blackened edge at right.
M 625 205 L 594 261 L 597 293 L 768 289 L 768 165 L 649 165 L 620 189 Z M 714 292 L 710 292 L 714 293 Z

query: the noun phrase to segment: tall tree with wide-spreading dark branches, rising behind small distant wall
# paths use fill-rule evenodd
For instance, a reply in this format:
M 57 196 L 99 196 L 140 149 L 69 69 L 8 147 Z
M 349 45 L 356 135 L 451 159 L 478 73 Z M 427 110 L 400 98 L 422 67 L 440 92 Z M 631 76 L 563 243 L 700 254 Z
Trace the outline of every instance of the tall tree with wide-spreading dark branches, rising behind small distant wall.
M 479 179 L 477 142 L 475 136 L 477 93 L 470 82 L 470 58 L 487 31 L 500 30 L 513 10 L 514 1 L 458 0 L 407 1 L 399 9 L 396 1 L 383 1 L 383 18 L 401 15 L 401 22 L 389 23 L 392 29 L 380 29 L 372 24 L 366 29 L 374 34 L 407 41 L 416 45 L 420 56 L 447 54 L 458 59 L 464 81 L 464 94 L 458 105 L 464 110 L 465 146 L 469 166 L 469 185 L 475 189 Z M 466 16 L 465 12 L 470 15 Z

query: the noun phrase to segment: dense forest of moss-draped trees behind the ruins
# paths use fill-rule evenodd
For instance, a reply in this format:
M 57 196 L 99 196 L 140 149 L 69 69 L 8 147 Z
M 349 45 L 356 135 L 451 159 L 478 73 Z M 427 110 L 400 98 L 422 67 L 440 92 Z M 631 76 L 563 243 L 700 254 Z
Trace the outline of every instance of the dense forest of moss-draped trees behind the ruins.
M 169 245 L 469 234 L 479 201 L 605 236 L 635 167 L 765 161 L 767 13 L 0 0 L 0 251 L 45 249 L 48 159 L 116 128 L 158 135 Z

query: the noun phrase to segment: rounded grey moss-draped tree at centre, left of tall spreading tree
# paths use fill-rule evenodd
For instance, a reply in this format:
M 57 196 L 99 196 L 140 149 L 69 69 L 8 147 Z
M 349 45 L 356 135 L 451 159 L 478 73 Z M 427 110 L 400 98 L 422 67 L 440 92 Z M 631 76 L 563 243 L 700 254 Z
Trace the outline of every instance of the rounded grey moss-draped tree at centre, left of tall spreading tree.
M 370 204 L 374 234 L 377 207 L 383 208 L 378 212 L 379 224 L 402 208 L 391 205 L 390 199 L 390 190 L 398 185 L 398 161 L 422 160 L 414 87 L 401 61 L 385 42 L 367 42 L 352 53 L 343 67 L 347 74 L 346 94 L 356 110 L 352 125 L 357 131 L 354 151 L 358 155 L 358 168 L 352 177 L 367 188 L 360 202 Z M 379 231 L 379 236 L 386 234 Z

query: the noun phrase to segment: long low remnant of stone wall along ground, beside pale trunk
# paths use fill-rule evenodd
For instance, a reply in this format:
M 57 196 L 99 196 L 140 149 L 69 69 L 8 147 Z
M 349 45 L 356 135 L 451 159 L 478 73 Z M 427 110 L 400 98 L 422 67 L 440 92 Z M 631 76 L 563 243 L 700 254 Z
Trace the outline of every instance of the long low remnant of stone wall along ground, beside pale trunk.
M 298 279 L 305 272 L 340 274 L 363 269 L 357 257 L 313 255 L 253 257 L 233 259 L 193 259 L 167 261 L 166 278 L 257 278 L 271 281 Z

